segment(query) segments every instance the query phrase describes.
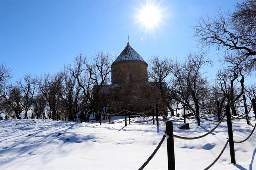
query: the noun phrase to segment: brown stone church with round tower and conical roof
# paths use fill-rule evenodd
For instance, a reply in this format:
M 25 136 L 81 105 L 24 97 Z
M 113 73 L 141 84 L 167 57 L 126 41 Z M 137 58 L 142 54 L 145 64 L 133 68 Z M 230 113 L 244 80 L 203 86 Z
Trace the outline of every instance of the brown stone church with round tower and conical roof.
M 162 84 L 162 87 L 166 93 L 166 85 Z M 104 85 L 101 93 L 113 112 L 125 108 L 143 112 L 156 103 L 159 107 L 167 107 L 162 100 L 159 83 L 148 81 L 148 64 L 129 42 L 111 65 L 111 85 Z

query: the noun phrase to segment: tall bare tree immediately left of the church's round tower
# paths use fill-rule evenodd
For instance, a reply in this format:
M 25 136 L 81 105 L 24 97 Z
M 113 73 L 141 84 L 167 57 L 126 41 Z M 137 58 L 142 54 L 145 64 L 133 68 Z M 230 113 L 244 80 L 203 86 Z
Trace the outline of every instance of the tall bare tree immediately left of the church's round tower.
M 70 67 L 71 75 L 76 79 L 78 85 L 82 88 L 84 99 L 84 113 L 80 118 L 88 121 L 89 116 L 93 111 L 102 109 L 104 103 L 104 95 L 100 91 L 102 87 L 109 83 L 109 75 L 111 72 L 111 56 L 99 52 L 92 58 L 91 63 L 88 62 L 86 57 L 82 57 L 80 53 L 75 57 L 73 68 Z

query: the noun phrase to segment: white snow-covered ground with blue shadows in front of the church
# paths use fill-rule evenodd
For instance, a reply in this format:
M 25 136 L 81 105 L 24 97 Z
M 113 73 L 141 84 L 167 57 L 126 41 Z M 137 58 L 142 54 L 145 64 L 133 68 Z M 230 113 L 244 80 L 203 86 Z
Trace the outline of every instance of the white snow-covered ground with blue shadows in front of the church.
M 121 117 L 115 117 L 116 120 Z M 149 120 L 148 118 L 132 118 Z M 213 119 L 213 118 L 212 118 Z M 123 120 L 123 119 L 119 119 Z M 190 130 L 179 129 L 182 121 L 174 122 L 174 134 L 186 137 L 203 135 L 217 122 L 201 120 L 198 127 L 189 119 Z M 255 118 L 251 119 L 255 123 Z M 252 127 L 246 120 L 232 120 L 235 141 L 245 139 Z M 0 170 L 135 170 L 154 151 L 165 131 L 146 123 L 75 123 L 44 119 L 0 121 Z M 61 134 L 60 134 L 61 133 Z M 204 169 L 220 153 L 226 138 L 227 124 L 222 122 L 210 135 L 198 140 L 174 139 L 176 169 Z M 69 139 L 67 141 L 67 139 Z M 211 169 L 256 169 L 256 133 L 244 143 L 235 143 L 236 165 L 230 164 L 229 145 Z M 144 168 L 166 170 L 166 140 Z

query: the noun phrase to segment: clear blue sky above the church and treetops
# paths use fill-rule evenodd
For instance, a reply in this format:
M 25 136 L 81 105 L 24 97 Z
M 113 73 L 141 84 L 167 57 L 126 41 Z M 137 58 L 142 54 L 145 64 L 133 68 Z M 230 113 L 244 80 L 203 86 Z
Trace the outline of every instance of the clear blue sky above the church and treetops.
M 135 17 L 146 1 L 0 0 L 0 63 L 14 79 L 24 73 L 57 72 L 75 54 L 109 52 L 115 58 L 127 44 L 145 61 L 154 55 L 185 58 L 198 51 L 192 39 L 195 18 L 213 16 L 219 7 L 232 11 L 236 1 L 155 1 L 164 23 L 153 31 L 139 29 Z M 152 2 L 151 2 L 152 3 Z M 216 50 L 209 57 L 219 67 Z

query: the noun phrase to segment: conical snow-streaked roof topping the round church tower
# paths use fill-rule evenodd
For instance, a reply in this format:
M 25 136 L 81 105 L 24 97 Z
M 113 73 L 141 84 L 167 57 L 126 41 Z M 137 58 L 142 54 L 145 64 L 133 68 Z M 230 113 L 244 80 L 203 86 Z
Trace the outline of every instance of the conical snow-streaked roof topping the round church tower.
M 142 61 L 146 63 L 146 61 L 143 60 L 143 58 L 130 46 L 128 42 L 124 50 L 121 52 L 121 54 L 119 54 L 113 63 L 129 60 Z

